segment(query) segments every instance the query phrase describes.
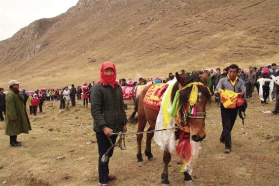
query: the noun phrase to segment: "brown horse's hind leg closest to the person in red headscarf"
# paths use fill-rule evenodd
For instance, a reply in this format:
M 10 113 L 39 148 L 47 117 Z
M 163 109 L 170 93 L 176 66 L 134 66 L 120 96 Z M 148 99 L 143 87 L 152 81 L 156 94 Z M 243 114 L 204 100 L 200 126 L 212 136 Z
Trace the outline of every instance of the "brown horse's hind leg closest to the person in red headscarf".
M 145 115 L 142 115 L 141 113 L 138 113 L 138 126 L 137 126 L 137 132 L 143 132 L 145 130 L 146 126 L 146 118 Z M 137 165 L 138 166 L 143 166 L 144 160 L 142 156 L 142 140 L 143 140 L 143 134 L 137 134 L 136 135 L 136 141 L 137 141 Z

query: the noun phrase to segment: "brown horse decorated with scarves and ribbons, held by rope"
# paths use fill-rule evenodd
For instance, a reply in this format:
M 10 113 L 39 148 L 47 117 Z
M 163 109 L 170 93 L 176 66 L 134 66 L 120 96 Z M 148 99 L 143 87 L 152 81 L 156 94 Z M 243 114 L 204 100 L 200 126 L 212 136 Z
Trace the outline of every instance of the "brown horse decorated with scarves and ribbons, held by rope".
M 203 84 L 205 84 L 206 79 L 208 78 L 208 74 L 204 73 L 202 75 L 202 77 L 200 78 L 199 74 L 197 72 L 193 72 L 192 75 L 188 74 L 186 77 L 182 77 L 178 73 L 176 73 L 176 78 L 177 78 L 177 82 L 173 86 L 172 91 L 171 91 L 171 101 L 173 101 L 173 98 L 175 97 L 175 94 L 176 94 L 177 90 L 179 90 L 179 88 L 184 87 L 187 84 L 192 83 L 192 82 L 202 82 Z M 152 85 L 147 86 L 142 91 L 142 93 L 138 99 L 137 107 L 135 108 L 135 111 L 131 116 L 131 117 L 134 117 L 135 113 L 137 111 L 137 117 L 138 117 L 137 132 L 144 131 L 147 122 L 150 125 L 150 127 L 148 128 L 147 131 L 155 129 L 156 119 L 159 114 L 159 111 L 155 111 L 155 110 L 148 108 L 143 102 L 144 97 L 145 97 L 148 89 L 151 86 Z M 179 99 L 180 99 L 180 103 L 182 105 L 187 104 L 187 101 L 190 97 L 191 90 L 192 90 L 192 87 L 189 87 L 180 93 Z M 206 105 L 206 102 L 211 99 L 210 92 L 208 92 L 208 90 L 206 88 L 204 88 L 202 86 L 198 86 L 198 90 L 199 90 L 199 99 L 196 103 L 197 112 L 203 113 L 203 115 L 196 117 L 196 118 L 187 117 L 187 119 L 185 121 L 189 125 L 190 130 L 191 130 L 190 137 L 196 142 L 201 141 L 202 139 L 205 138 L 205 123 L 204 123 L 205 105 Z M 176 136 L 178 136 L 178 132 L 176 132 Z M 153 160 L 153 155 L 151 153 L 151 140 L 152 140 L 153 136 L 154 136 L 154 133 L 148 133 L 147 140 L 146 140 L 145 155 L 148 157 L 148 160 L 150 160 L 150 161 Z M 137 155 L 136 155 L 138 166 L 143 166 L 142 139 L 143 139 L 143 134 L 138 134 L 137 135 Z M 163 155 L 164 170 L 162 173 L 162 184 L 169 184 L 167 168 L 168 168 L 170 159 L 171 159 L 171 154 L 167 150 L 165 150 L 164 155 Z M 185 180 L 186 181 L 192 180 L 191 176 L 188 173 L 185 173 Z

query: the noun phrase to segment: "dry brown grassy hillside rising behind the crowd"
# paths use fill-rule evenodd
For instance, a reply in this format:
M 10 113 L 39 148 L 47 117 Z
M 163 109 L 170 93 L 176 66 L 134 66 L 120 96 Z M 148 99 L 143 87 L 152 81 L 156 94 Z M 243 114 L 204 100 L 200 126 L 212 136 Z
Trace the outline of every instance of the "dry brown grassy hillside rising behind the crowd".
M 58 88 L 98 80 L 100 64 L 118 78 L 278 61 L 276 1 L 93 1 L 34 21 L 0 42 L 0 86 Z

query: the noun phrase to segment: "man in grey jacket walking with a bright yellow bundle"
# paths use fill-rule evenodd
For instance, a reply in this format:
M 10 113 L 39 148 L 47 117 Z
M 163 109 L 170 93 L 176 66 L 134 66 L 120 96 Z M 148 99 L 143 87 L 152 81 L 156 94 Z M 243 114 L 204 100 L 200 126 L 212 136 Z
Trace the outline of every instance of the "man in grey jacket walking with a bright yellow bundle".
M 223 132 L 220 141 L 225 143 L 225 154 L 231 152 L 231 130 L 238 113 L 236 100 L 238 96 L 243 97 L 245 92 L 243 81 L 237 78 L 239 67 L 236 64 L 231 64 L 228 68 L 228 76 L 221 79 L 215 89 L 215 95 L 221 95 L 222 101 L 221 117 Z

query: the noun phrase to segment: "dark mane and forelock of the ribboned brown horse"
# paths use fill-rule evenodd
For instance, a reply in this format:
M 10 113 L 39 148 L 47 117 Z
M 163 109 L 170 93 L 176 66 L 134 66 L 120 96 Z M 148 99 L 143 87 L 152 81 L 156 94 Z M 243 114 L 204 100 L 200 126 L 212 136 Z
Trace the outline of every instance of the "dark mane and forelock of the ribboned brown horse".
M 199 77 L 199 72 L 197 71 L 193 71 L 192 73 L 186 73 L 185 77 L 184 77 L 187 81 L 183 86 L 186 86 L 189 83 L 193 83 L 193 82 L 201 82 L 201 79 Z M 179 89 L 179 82 L 176 82 L 175 85 L 173 85 L 172 91 L 171 91 L 171 102 L 173 101 L 173 99 L 175 98 L 176 92 Z M 211 101 L 211 93 L 208 92 L 207 88 L 202 87 L 202 86 L 198 86 L 199 91 L 204 94 L 207 98 L 208 101 Z M 186 88 L 185 91 L 183 91 L 180 94 L 180 100 L 188 100 L 187 97 L 189 97 L 188 95 L 191 93 L 192 91 L 192 87 Z

